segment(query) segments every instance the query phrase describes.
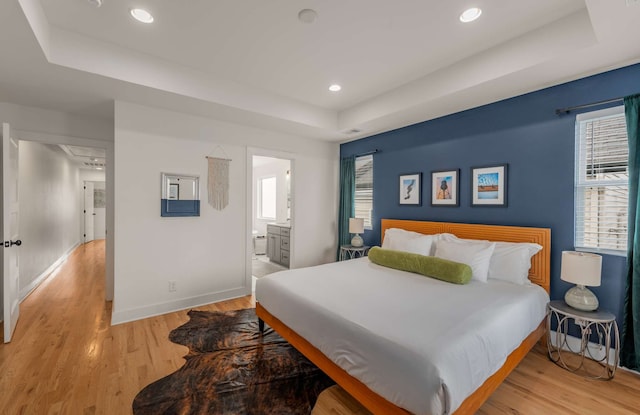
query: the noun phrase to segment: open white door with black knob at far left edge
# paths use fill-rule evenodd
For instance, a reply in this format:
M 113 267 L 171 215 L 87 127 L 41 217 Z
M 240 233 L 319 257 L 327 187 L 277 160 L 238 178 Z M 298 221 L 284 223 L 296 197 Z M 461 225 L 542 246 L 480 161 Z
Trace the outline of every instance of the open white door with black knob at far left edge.
M 20 316 L 18 254 L 18 140 L 11 137 L 9 124 L 2 124 L 2 294 L 4 342 L 11 341 Z

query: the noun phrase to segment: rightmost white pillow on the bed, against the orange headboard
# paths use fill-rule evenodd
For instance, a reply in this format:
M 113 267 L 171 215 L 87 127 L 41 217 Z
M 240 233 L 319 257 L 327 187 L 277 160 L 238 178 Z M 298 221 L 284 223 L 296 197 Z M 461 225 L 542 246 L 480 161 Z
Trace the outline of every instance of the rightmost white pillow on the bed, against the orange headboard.
M 489 278 L 528 284 L 531 257 L 541 249 L 542 246 L 534 243 L 496 242 L 489 264 Z

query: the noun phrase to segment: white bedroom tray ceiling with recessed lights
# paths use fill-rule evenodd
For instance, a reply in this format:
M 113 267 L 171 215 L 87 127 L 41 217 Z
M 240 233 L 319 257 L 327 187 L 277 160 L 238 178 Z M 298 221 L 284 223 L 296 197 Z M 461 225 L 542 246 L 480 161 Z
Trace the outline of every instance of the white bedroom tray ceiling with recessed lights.
M 640 62 L 639 21 L 640 0 L 3 0 L 0 101 L 342 142 Z

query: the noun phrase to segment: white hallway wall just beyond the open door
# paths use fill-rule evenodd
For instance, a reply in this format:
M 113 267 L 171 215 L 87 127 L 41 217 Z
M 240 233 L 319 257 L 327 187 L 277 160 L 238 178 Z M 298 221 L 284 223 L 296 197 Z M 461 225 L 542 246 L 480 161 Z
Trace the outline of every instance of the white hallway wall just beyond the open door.
M 56 145 L 20 141 L 20 295 L 79 243 L 80 175 Z

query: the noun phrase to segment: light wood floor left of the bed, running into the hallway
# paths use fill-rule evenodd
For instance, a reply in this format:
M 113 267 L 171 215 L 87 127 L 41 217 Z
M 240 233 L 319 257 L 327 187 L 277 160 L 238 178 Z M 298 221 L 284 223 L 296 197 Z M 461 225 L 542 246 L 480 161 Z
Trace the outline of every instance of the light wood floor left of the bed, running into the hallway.
M 0 345 L 1 414 L 129 414 L 140 389 L 184 364 L 167 341 L 186 311 L 110 326 L 104 240 L 78 247 L 20 307 Z M 200 307 L 252 306 L 250 297 Z

